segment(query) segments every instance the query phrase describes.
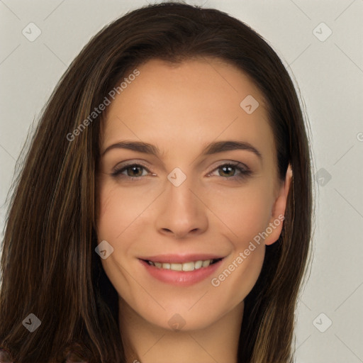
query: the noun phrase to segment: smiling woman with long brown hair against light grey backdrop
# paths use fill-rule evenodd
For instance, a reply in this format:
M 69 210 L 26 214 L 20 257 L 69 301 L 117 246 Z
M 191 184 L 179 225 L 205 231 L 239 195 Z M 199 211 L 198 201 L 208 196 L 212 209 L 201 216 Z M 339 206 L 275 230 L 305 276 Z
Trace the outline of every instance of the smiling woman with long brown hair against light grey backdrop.
M 3 355 L 292 362 L 311 205 L 274 50 L 214 9 L 132 11 L 77 56 L 36 130 L 1 256 Z

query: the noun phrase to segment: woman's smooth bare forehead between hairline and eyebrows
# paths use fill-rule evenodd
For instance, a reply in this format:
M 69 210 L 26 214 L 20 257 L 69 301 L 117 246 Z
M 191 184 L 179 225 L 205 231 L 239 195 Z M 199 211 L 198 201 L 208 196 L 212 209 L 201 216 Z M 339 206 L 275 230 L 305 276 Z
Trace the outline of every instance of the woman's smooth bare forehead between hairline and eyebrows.
M 137 68 L 138 77 L 108 106 L 103 149 L 132 139 L 172 152 L 234 138 L 271 153 L 274 141 L 262 93 L 233 65 L 203 58 L 177 64 L 150 60 Z M 253 108 L 255 101 L 259 104 L 252 113 L 243 108 L 246 98 Z

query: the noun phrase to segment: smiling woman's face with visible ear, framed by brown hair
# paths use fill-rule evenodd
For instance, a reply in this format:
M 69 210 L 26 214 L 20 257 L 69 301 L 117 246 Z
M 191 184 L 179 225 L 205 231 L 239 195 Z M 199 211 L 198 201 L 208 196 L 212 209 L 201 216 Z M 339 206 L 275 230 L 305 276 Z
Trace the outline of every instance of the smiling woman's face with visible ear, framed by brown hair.
M 101 135 L 97 233 L 113 247 L 102 264 L 143 320 L 206 328 L 255 285 L 290 179 L 277 179 L 262 94 L 240 70 L 208 58 L 138 71 Z

